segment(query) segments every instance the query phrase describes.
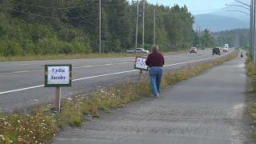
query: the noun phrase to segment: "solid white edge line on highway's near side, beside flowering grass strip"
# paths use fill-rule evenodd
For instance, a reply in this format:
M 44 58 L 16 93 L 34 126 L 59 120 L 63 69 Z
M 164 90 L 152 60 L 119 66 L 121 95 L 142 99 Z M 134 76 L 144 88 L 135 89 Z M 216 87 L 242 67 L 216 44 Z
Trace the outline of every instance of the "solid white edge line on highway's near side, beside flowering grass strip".
M 230 51 L 229 53 L 231 53 L 232 51 Z M 226 54 L 229 54 L 229 53 L 226 53 Z M 221 57 L 225 56 L 226 54 L 223 54 L 222 56 L 217 57 L 217 58 L 221 58 Z M 182 65 L 182 64 L 185 64 L 185 63 L 199 62 L 199 61 L 203 61 L 203 60 L 206 60 L 206 59 L 214 59 L 214 58 L 202 58 L 202 59 L 198 59 L 198 60 L 194 60 L 194 61 L 174 63 L 174 64 L 166 65 L 166 66 L 177 66 L 177 65 Z M 134 71 L 138 71 L 138 70 L 127 70 L 127 71 L 121 71 L 121 72 L 112 73 L 112 74 L 102 74 L 102 75 L 96 75 L 96 76 L 91 76 L 91 77 L 86 77 L 86 78 L 78 78 L 78 79 L 72 80 L 72 82 L 81 81 L 81 80 L 90 79 L 90 78 L 105 77 L 105 76 L 110 76 L 110 75 L 115 75 L 115 74 L 125 74 L 125 73 L 134 72 Z M 17 92 L 17 91 L 30 90 L 30 89 L 34 89 L 34 88 L 38 88 L 38 87 L 43 87 L 43 86 L 44 85 L 38 85 L 38 86 L 31 86 L 31 87 L 26 87 L 26 88 L 17 89 L 17 90 L 3 91 L 3 92 L 0 92 L 0 94 L 9 94 L 9 93 Z

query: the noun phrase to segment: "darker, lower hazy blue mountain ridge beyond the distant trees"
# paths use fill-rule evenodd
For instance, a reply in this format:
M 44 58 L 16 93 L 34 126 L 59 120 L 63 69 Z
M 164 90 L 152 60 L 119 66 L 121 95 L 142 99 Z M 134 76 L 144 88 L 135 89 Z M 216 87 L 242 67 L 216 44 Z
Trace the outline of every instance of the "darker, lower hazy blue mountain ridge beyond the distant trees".
M 215 14 L 199 14 L 194 16 L 194 29 L 210 29 L 212 31 L 234 30 L 238 28 L 248 28 L 249 22 L 238 18 L 226 17 Z

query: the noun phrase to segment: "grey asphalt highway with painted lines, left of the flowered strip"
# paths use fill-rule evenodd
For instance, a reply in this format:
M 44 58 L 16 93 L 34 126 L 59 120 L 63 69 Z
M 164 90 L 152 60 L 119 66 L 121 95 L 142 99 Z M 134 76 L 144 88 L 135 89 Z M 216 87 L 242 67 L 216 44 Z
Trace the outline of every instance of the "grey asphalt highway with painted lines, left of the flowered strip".
M 166 55 L 166 69 L 177 69 L 193 62 L 218 58 L 211 50 L 200 50 L 198 54 Z M 39 103 L 52 102 L 54 88 L 45 88 L 45 64 L 72 64 L 71 87 L 62 88 L 62 98 L 87 93 L 97 86 L 110 86 L 118 82 L 138 79 L 134 70 L 134 58 L 86 58 L 33 62 L 0 62 L 0 109 L 17 110 Z

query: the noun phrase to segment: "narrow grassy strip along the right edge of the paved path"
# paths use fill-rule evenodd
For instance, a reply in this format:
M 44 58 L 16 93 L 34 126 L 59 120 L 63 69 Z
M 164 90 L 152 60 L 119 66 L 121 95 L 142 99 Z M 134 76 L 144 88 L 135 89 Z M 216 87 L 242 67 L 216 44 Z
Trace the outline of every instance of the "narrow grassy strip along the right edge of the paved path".
M 250 57 L 246 59 L 246 75 L 250 78 L 247 82 L 246 92 L 246 114 L 252 118 L 252 126 L 256 126 L 256 66 L 250 61 Z M 252 128 L 253 128 L 252 127 Z M 256 142 L 256 130 L 253 129 L 252 137 Z

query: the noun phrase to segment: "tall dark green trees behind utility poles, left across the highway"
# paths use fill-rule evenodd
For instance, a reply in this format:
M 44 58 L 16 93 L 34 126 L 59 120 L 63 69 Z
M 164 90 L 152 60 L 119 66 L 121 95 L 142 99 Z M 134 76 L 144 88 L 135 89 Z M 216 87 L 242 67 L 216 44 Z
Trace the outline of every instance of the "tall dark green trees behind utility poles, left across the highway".
M 145 4 L 145 48 L 162 51 L 195 45 L 194 18 L 186 6 Z M 0 56 L 98 52 L 98 0 L 0 0 Z M 102 0 L 102 52 L 134 49 L 137 3 Z M 138 46 L 142 45 L 139 2 Z

